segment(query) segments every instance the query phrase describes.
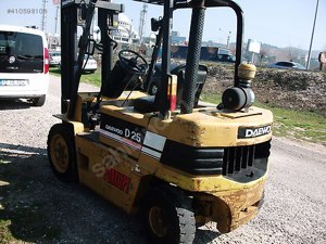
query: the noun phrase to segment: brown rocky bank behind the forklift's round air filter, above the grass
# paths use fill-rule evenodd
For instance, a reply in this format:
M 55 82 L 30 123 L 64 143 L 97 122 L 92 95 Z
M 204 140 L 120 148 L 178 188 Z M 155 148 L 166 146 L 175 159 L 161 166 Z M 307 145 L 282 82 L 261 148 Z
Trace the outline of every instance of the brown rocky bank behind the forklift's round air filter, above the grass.
M 205 91 L 222 92 L 233 86 L 231 66 L 209 66 Z M 316 111 L 326 116 L 326 73 L 259 68 L 253 90 L 260 102 L 277 106 Z

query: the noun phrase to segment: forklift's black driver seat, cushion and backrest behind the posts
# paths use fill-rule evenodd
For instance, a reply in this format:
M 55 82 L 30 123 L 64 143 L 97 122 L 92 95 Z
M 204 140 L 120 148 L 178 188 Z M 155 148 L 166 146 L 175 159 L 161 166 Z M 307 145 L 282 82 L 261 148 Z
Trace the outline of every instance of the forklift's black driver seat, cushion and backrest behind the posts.
M 183 91 L 184 86 L 186 84 L 186 65 L 180 65 L 177 68 L 175 68 L 172 74 L 177 75 L 177 108 L 180 107 L 180 104 L 183 102 Z M 204 86 L 204 82 L 206 80 L 208 76 L 208 67 L 204 65 L 199 65 L 198 68 L 198 76 L 197 76 L 197 91 L 195 94 L 195 101 L 193 106 L 197 107 L 199 102 L 199 97 L 201 94 L 202 88 Z M 160 90 L 156 92 L 156 94 L 160 93 Z M 136 99 L 134 101 L 134 108 L 140 113 L 151 113 L 158 111 L 158 104 L 159 104 L 159 95 L 150 95 L 150 97 L 143 97 Z

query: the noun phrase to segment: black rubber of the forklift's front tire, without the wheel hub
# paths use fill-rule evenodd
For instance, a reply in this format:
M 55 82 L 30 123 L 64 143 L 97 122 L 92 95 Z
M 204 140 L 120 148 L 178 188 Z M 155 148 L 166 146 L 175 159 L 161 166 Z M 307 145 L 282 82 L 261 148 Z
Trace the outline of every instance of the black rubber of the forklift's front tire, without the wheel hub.
M 54 154 L 54 149 L 51 147 L 51 142 L 54 140 L 54 137 L 61 137 L 64 140 L 68 165 L 66 170 L 59 171 L 52 158 L 52 152 Z M 78 169 L 76 164 L 76 147 L 75 147 L 75 136 L 74 136 L 74 127 L 71 124 L 57 124 L 51 127 L 49 136 L 48 136 L 48 158 L 50 166 L 54 172 L 54 175 L 64 182 L 77 182 L 78 181 Z

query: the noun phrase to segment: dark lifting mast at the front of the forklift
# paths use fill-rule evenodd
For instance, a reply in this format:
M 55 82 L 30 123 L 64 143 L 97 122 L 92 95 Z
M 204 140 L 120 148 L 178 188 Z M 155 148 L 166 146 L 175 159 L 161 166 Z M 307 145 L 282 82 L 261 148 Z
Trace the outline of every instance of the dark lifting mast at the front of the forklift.
M 96 8 L 101 30 L 99 44 L 90 39 L 90 27 Z M 112 70 L 112 53 L 115 43 L 110 33 L 117 29 L 117 15 L 121 12 L 124 12 L 124 5 L 111 1 L 61 1 L 61 112 L 67 113 L 70 118 L 73 117 L 75 111 L 84 56 L 93 54 L 95 48 L 102 52 L 101 80 L 108 80 Z M 79 41 L 77 26 L 83 28 Z

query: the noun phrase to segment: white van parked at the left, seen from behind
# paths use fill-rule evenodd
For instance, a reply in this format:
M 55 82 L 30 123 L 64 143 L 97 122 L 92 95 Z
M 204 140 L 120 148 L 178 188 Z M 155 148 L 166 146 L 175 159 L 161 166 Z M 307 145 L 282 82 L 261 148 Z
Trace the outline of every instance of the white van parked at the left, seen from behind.
M 0 99 L 46 102 L 49 50 L 46 35 L 34 28 L 0 25 Z

